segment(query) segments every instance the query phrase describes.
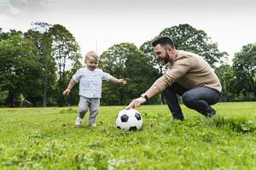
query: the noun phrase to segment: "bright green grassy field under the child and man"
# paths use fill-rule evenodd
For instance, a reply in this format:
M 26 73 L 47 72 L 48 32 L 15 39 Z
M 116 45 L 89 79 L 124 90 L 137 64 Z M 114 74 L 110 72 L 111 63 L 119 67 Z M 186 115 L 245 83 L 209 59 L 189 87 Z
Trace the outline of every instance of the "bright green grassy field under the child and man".
M 125 106 L 101 106 L 97 127 L 78 107 L 0 109 L 0 169 L 256 169 L 256 102 L 219 103 L 214 119 L 182 105 L 143 105 L 143 128 L 115 127 Z

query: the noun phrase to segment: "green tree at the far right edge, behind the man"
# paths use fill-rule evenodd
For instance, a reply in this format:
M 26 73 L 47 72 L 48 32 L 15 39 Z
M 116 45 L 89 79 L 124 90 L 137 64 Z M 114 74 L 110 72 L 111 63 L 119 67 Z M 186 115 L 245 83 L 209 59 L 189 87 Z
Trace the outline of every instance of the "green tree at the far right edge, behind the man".
M 236 76 L 236 93 L 252 93 L 256 99 L 256 43 L 249 43 L 233 59 Z

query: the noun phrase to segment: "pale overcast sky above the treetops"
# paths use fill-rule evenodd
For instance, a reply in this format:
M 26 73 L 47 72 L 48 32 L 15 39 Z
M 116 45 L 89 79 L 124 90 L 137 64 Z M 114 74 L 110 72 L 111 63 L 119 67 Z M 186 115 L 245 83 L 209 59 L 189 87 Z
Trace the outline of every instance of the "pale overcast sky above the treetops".
M 65 26 L 83 56 L 120 42 L 139 48 L 179 24 L 205 31 L 230 59 L 256 42 L 255 0 L 0 0 L 3 31 L 27 31 L 36 21 Z

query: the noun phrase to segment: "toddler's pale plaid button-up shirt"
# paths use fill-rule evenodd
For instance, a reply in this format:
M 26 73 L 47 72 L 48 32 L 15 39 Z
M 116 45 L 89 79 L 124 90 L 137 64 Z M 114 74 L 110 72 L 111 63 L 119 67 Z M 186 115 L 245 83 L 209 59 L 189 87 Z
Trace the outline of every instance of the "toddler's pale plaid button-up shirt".
M 72 77 L 74 82 L 79 82 L 79 95 L 86 98 L 102 97 L 102 80 L 109 80 L 112 76 L 101 69 L 90 71 L 80 68 Z

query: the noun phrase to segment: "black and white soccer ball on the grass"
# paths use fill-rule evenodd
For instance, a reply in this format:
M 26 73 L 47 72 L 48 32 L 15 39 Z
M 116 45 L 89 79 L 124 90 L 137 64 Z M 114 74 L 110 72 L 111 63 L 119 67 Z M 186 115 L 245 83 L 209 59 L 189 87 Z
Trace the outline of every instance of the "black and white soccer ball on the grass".
M 143 126 L 143 116 L 135 109 L 124 109 L 119 111 L 115 124 L 120 129 L 139 130 Z

